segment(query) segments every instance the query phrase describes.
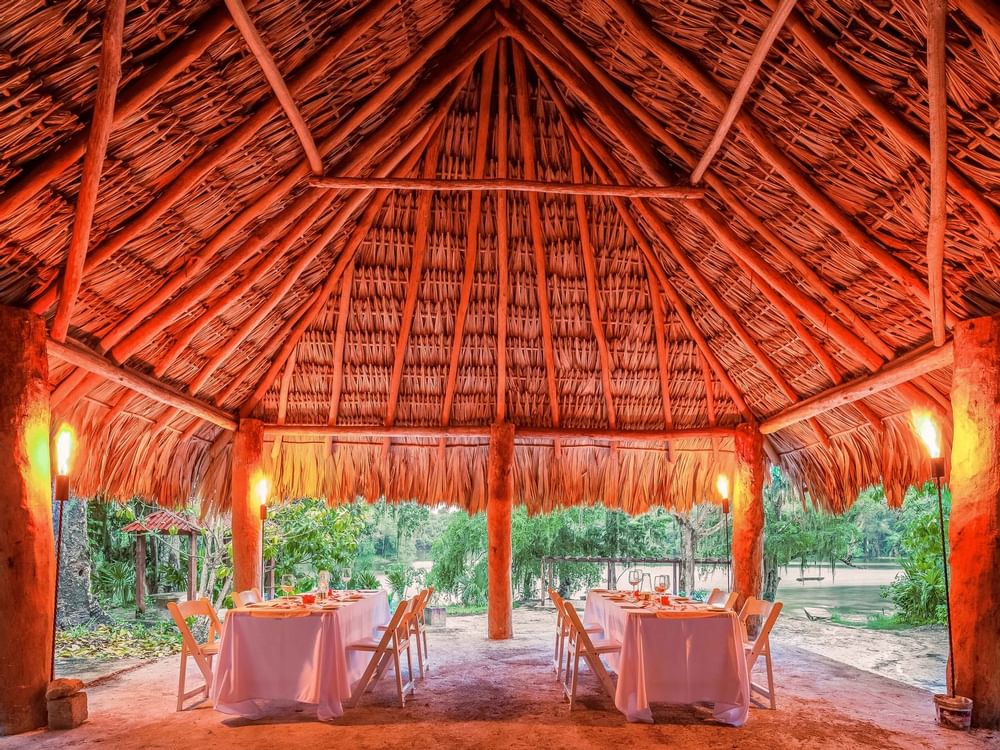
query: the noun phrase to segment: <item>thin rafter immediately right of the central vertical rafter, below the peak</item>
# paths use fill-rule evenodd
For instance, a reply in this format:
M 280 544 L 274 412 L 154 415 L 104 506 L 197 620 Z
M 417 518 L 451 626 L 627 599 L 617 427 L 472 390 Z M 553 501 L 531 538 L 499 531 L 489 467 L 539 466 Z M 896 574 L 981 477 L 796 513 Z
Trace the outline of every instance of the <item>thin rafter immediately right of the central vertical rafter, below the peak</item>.
M 528 73 L 524 52 L 520 47 L 512 47 L 514 62 L 515 101 L 517 105 L 518 133 L 521 136 L 521 160 L 524 176 L 529 180 L 536 177 L 535 136 L 531 106 L 528 100 Z M 559 389 L 556 385 L 556 355 L 552 343 L 552 310 L 549 307 L 549 290 L 545 272 L 545 228 L 542 223 L 542 208 L 535 193 L 528 193 L 528 226 L 535 256 L 535 290 L 538 294 L 538 317 L 542 329 L 542 354 L 545 359 L 545 379 L 549 391 L 549 412 L 552 426 L 559 426 Z

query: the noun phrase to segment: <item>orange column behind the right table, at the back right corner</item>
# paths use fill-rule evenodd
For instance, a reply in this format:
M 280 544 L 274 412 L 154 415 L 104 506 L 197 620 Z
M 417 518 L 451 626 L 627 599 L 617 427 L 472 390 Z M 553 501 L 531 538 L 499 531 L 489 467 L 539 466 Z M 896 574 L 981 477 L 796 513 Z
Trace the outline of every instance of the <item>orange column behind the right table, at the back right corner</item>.
M 757 425 L 736 428 L 733 477 L 733 590 L 738 605 L 759 597 L 764 582 L 764 440 Z

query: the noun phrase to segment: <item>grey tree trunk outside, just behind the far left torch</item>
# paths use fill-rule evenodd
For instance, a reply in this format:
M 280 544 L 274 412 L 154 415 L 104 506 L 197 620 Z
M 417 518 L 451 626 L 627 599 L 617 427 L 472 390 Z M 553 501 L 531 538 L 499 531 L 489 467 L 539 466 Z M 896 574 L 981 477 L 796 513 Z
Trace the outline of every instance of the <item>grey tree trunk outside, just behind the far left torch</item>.
M 87 538 L 87 503 L 69 500 L 64 504 L 63 548 L 59 565 L 59 628 L 77 625 L 109 625 L 111 618 L 94 599 L 90 579 L 90 544 Z M 59 523 L 59 503 L 52 504 L 53 529 Z

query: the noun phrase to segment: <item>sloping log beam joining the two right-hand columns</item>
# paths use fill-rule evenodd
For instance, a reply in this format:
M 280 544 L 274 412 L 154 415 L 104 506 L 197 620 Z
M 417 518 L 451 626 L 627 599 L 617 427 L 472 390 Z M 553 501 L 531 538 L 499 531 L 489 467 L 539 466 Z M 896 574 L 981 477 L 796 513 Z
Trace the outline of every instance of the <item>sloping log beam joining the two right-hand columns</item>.
M 943 367 L 950 367 L 955 350 L 949 341 L 944 346 L 923 346 L 897 357 L 876 372 L 829 388 L 765 419 L 760 426 L 771 434 L 831 409 L 853 404 L 859 399 L 901 386 L 914 378 Z

